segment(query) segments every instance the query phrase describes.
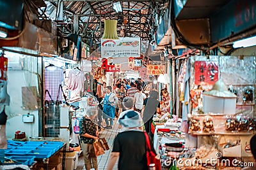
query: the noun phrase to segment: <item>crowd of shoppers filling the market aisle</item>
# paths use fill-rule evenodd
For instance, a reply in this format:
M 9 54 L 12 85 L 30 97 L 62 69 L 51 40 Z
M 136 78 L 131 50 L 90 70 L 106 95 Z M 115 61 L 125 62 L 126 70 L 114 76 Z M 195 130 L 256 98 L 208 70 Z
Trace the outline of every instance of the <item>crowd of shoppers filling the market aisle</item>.
M 86 170 L 97 169 L 93 141 L 99 139 L 98 129 L 102 127 L 102 118 L 106 122 L 103 128 L 112 129 L 115 117 L 118 118 L 119 133 L 113 144 L 108 169 L 113 169 L 117 159 L 118 169 L 148 168 L 145 134 L 152 139 L 152 119 L 157 113 L 161 114 L 161 110 L 158 92 L 153 89 L 146 96 L 143 86 L 145 87 L 145 83 L 140 79 L 131 83 L 127 80 L 118 80 L 113 89 L 106 86 L 105 82 L 102 83 L 102 94 L 98 96 L 99 109 L 89 107 L 79 123 Z M 165 104 L 164 110 L 170 110 L 170 95 L 166 89 L 161 90 L 161 96 Z M 153 146 L 151 148 L 154 150 Z

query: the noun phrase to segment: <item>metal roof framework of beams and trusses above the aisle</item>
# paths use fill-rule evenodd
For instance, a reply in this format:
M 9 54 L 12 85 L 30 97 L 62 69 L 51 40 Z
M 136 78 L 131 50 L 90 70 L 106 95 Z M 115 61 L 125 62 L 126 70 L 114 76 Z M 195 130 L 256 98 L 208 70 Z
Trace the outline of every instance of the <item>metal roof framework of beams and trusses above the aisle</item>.
M 37 0 L 40 1 L 40 0 Z M 120 37 L 140 37 L 152 40 L 157 29 L 156 22 L 163 15 L 164 0 L 124 0 L 122 12 L 116 13 L 113 3 L 106 0 L 45 0 L 39 15 L 56 21 L 63 36 L 79 34 L 83 41 L 100 43 L 104 32 L 104 20 L 118 20 L 117 32 Z M 63 13 L 63 14 L 62 14 Z M 60 19 L 61 18 L 61 19 Z

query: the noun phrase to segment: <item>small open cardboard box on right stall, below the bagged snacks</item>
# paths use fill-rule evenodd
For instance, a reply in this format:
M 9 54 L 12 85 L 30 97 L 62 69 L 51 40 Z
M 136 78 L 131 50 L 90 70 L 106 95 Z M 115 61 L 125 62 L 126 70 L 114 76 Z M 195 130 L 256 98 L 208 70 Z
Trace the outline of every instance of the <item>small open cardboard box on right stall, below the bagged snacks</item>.
M 218 147 L 222 153 L 222 157 L 242 157 L 241 144 L 230 148 L 223 148 L 225 145 L 227 145 L 227 143 L 221 143 Z

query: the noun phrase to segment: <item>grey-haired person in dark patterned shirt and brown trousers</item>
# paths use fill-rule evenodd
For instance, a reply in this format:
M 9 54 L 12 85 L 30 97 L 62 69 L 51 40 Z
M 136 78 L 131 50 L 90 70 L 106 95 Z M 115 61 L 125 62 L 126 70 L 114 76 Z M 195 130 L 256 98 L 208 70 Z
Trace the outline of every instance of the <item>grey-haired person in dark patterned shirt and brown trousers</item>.
M 79 121 L 79 135 L 83 149 L 84 166 L 86 170 L 98 168 L 97 157 L 95 156 L 93 142 L 98 138 L 99 131 L 95 117 L 98 110 L 95 107 L 88 107 L 86 114 Z

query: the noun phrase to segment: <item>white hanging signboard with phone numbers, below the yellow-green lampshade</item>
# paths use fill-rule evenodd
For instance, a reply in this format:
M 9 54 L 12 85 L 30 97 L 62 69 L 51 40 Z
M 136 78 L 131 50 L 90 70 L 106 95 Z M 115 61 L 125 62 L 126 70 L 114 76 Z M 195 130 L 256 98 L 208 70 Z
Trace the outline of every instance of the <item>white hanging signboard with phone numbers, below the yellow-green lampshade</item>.
M 140 38 L 101 39 L 101 57 L 140 57 Z

